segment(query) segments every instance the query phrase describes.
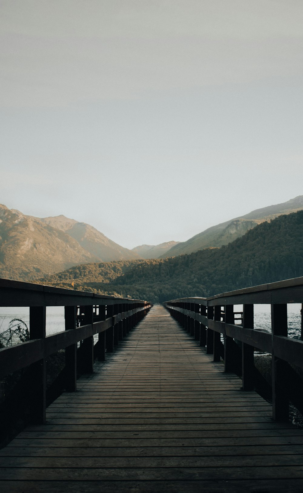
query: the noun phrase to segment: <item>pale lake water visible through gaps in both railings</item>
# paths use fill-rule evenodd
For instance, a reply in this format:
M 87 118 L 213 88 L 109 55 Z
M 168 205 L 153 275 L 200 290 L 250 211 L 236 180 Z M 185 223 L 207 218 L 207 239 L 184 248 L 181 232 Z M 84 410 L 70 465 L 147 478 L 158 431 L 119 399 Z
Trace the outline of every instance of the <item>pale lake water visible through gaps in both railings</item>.
M 242 311 L 242 305 L 234 306 L 235 312 Z M 301 304 L 287 305 L 288 335 L 294 339 L 301 338 Z M 0 333 L 7 330 L 12 318 L 20 318 L 30 327 L 30 309 L 28 307 L 0 307 Z M 270 305 L 254 305 L 255 329 L 271 331 Z M 46 307 L 46 335 L 65 330 L 64 307 Z M 14 342 L 19 342 L 15 340 Z

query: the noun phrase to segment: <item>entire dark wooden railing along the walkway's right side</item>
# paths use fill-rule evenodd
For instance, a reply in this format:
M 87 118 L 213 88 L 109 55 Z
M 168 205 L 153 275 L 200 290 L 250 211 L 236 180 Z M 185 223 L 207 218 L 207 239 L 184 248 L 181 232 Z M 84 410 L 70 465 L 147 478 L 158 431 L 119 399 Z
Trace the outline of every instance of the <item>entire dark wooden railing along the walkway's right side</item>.
M 273 419 L 287 421 L 289 401 L 303 413 L 303 380 L 296 369 L 303 368 L 303 341 L 287 334 L 287 304 L 302 302 L 303 278 L 296 278 L 209 298 L 180 298 L 164 305 L 213 354 L 214 361 L 224 360 L 226 372 L 242 376 L 244 390 L 256 387 L 266 397 L 270 390 Z M 271 333 L 254 328 L 254 304 L 271 305 Z M 234 305 L 243 305 L 243 310 L 234 312 Z M 241 323 L 235 324 L 236 319 Z M 272 355 L 271 389 L 254 366 L 255 350 Z

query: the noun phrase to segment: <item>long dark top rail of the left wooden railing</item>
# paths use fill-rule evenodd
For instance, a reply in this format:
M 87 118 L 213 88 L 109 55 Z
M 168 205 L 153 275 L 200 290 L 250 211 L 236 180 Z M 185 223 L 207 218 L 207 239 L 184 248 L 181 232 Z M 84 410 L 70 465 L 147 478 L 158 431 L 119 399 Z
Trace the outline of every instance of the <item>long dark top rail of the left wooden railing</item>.
M 105 296 L 89 291 L 77 291 L 34 282 L 0 279 L 0 306 L 2 307 L 116 305 L 120 303 L 145 303 L 145 301 Z

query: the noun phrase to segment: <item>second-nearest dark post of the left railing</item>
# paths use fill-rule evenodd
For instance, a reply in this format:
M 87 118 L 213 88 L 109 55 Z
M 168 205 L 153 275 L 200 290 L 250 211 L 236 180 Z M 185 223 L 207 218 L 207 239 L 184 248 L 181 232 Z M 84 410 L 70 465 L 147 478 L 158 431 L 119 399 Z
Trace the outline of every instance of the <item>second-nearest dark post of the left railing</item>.
M 77 307 L 64 307 L 65 330 L 75 329 L 77 325 Z M 71 344 L 65 349 L 66 391 L 77 390 L 77 345 Z

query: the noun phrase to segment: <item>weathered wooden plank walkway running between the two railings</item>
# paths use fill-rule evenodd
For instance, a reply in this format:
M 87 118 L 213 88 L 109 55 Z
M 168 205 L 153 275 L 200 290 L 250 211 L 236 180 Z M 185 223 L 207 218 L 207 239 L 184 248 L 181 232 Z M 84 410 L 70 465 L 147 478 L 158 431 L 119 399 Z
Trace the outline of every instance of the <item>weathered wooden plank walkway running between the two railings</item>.
M 2 493 L 303 491 L 303 433 L 153 307 L 0 450 Z

